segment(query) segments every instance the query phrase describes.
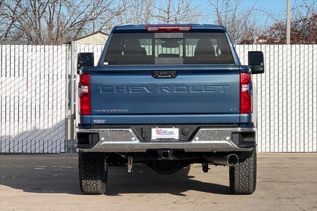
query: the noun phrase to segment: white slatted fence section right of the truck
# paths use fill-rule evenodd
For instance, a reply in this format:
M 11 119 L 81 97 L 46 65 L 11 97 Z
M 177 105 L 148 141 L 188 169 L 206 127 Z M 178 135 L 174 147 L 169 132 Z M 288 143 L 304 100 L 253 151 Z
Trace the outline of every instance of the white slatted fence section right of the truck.
M 237 45 L 264 53 L 258 89 L 258 151 L 317 152 L 317 45 Z

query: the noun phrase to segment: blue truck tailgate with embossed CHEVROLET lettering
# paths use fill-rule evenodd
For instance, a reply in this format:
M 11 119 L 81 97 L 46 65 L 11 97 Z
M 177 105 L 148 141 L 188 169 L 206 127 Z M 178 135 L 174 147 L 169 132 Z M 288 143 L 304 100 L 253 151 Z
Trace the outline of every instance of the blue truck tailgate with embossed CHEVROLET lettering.
M 174 70 L 174 78 L 153 71 Z M 90 72 L 92 124 L 239 123 L 238 65 L 100 67 Z

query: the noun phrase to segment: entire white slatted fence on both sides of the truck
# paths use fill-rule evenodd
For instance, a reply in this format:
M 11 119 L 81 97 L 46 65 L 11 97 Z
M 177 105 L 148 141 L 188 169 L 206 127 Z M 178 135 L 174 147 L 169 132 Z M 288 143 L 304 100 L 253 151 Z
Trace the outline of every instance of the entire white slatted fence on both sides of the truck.
M 93 52 L 97 64 L 103 47 L 76 53 Z M 317 45 L 236 50 L 242 64 L 249 51 L 264 53 L 265 73 L 253 76 L 258 152 L 317 152 Z M 64 152 L 66 46 L 1 46 L 1 53 L 0 152 Z

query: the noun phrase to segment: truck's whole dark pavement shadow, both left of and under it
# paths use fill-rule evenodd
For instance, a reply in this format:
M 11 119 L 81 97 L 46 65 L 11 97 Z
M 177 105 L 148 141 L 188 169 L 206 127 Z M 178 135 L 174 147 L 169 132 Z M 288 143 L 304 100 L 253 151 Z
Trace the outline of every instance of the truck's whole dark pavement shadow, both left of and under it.
M 77 155 L 7 155 L 0 159 L 0 185 L 29 193 L 82 194 Z M 108 196 L 131 193 L 186 196 L 184 192 L 189 190 L 230 194 L 228 186 L 194 179 L 195 176 L 188 175 L 189 167 L 171 175 L 159 175 L 142 164 L 136 164 L 132 174 L 126 173 L 125 166 L 110 166 L 109 170 Z

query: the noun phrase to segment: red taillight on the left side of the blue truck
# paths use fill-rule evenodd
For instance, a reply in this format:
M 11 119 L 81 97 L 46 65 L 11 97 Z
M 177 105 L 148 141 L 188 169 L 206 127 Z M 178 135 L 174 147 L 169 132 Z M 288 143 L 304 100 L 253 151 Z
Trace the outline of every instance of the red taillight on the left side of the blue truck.
M 90 115 L 90 74 L 80 75 L 81 93 L 79 95 L 79 113 Z

